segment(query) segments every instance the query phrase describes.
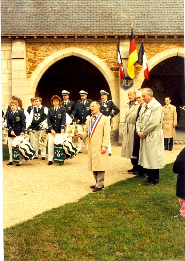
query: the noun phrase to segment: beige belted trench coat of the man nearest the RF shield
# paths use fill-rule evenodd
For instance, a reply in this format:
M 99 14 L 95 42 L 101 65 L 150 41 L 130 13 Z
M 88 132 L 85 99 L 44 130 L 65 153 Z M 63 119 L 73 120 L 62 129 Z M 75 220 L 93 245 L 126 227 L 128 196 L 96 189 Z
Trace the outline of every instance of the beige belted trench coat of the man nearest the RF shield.
M 123 126 L 123 141 L 121 147 L 121 157 L 124 158 L 136 158 L 132 156 L 133 145 L 134 145 L 134 129 L 136 124 L 136 116 L 137 110 L 139 108 L 138 102 L 134 102 L 134 104 L 130 107 L 129 103 L 127 103 L 125 118 L 124 118 L 124 126 Z

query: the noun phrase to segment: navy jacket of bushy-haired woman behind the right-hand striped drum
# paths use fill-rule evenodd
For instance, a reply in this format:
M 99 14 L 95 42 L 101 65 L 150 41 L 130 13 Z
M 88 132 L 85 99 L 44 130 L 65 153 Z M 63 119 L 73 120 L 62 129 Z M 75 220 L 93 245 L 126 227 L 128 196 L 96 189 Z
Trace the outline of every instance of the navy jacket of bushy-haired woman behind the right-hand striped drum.
M 65 108 L 58 106 L 56 113 L 54 107 L 49 108 L 47 121 L 48 121 L 49 133 L 51 133 L 52 129 L 54 129 L 56 133 L 60 133 L 61 129 L 65 129 L 65 123 L 66 123 Z

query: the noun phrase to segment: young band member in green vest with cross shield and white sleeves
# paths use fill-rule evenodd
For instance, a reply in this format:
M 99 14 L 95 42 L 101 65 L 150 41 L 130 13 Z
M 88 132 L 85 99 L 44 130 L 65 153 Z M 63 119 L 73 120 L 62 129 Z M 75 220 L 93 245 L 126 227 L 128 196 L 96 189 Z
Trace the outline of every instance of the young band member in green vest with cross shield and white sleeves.
M 32 146 L 34 149 L 37 151 L 38 155 L 38 150 L 39 146 L 41 146 L 41 158 L 42 160 L 45 159 L 46 157 L 46 147 L 39 144 L 39 134 L 40 134 L 40 127 L 43 126 L 47 122 L 47 115 L 48 115 L 48 108 L 45 106 L 42 106 L 42 98 L 41 97 L 36 97 L 35 104 L 36 107 L 34 107 L 31 112 L 29 119 L 26 123 L 26 128 L 31 125 L 31 129 L 35 130 L 33 133 L 32 137 Z M 35 157 L 34 159 L 38 159 L 38 157 Z

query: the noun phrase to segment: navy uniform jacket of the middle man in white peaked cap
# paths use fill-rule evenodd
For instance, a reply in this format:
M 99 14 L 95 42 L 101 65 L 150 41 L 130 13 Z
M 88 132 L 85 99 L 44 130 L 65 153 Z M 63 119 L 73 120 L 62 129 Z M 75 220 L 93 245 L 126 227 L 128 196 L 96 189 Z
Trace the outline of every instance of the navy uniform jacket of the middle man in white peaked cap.
M 86 117 L 88 115 L 92 116 L 91 110 L 90 110 L 90 104 L 92 100 L 86 99 L 84 108 L 83 108 L 83 101 L 78 100 L 75 106 L 75 109 L 72 111 L 70 116 L 73 116 L 71 118 L 75 118 L 75 115 L 77 115 L 77 119 L 80 120 L 78 124 L 85 124 Z

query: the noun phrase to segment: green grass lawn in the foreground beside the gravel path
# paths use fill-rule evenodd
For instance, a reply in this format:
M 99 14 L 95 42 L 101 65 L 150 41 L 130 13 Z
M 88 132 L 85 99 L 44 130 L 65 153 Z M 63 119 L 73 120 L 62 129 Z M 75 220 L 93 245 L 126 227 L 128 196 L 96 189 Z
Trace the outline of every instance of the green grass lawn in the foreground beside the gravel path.
M 128 179 L 4 229 L 4 260 L 184 260 L 172 166 L 156 186 Z

